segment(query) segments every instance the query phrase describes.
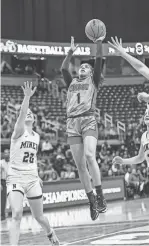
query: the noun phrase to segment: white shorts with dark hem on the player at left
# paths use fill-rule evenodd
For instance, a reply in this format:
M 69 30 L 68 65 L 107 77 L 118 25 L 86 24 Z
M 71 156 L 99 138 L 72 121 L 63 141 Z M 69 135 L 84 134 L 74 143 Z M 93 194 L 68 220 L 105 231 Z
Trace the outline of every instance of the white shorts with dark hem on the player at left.
M 18 191 L 26 195 L 28 199 L 37 199 L 42 197 L 42 189 L 38 174 L 29 171 L 16 171 L 9 168 L 7 175 L 7 195 L 11 191 Z

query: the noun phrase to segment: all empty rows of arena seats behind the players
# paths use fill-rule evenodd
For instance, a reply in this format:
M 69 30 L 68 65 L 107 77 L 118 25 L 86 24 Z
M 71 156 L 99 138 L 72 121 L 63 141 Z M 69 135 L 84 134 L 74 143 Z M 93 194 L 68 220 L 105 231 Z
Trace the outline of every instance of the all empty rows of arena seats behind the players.
M 131 97 L 131 85 L 119 85 L 119 86 L 103 86 L 100 88 L 97 98 L 97 108 L 102 112 L 108 113 L 114 119 L 114 122 L 120 120 L 124 123 L 128 119 L 133 118 L 134 121 L 144 114 L 145 104 L 137 103 L 135 98 L 135 104 L 132 104 Z M 135 95 L 138 92 L 144 91 L 143 85 L 134 85 Z M 146 92 L 149 92 L 149 87 L 145 88 Z M 20 87 L 17 86 L 2 86 L 1 87 L 1 103 L 6 105 L 9 98 L 22 98 L 23 92 Z M 136 97 L 136 96 L 135 96 Z M 54 98 L 47 91 L 42 91 L 40 88 L 31 99 L 31 104 L 40 106 L 46 106 L 51 112 L 51 120 L 56 117 L 66 116 L 66 109 L 63 107 L 63 103 L 60 98 Z

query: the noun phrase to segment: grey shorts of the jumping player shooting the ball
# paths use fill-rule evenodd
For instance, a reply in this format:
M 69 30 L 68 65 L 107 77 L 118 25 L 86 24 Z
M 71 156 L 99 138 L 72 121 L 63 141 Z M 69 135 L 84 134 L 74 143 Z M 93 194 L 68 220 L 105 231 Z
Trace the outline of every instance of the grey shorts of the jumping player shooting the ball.
M 98 139 L 98 127 L 95 116 L 68 118 L 66 132 L 70 145 L 83 143 L 83 139 L 86 136 L 93 136 Z

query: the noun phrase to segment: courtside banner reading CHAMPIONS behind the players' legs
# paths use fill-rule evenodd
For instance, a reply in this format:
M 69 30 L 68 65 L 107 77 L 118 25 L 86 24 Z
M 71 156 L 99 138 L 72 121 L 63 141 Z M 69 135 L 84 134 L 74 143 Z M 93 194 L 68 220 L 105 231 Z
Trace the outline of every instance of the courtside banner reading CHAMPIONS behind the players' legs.
M 123 177 L 106 178 L 102 181 L 103 193 L 107 201 L 124 199 L 125 188 Z M 82 184 L 78 179 L 57 182 L 44 182 L 43 204 L 45 208 L 62 208 L 72 205 L 87 204 L 88 200 Z M 26 198 L 23 202 L 24 211 L 29 211 L 29 203 Z M 10 206 L 7 202 L 7 211 Z

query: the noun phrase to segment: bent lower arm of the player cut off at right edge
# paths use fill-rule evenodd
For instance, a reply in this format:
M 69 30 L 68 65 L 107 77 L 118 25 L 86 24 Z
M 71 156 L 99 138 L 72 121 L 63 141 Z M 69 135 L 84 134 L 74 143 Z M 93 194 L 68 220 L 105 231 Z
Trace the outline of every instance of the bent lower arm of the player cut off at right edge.
M 116 157 L 114 157 L 112 163 L 114 165 L 116 165 L 116 164 L 133 165 L 133 164 L 139 164 L 139 163 L 143 162 L 144 160 L 145 160 L 144 149 L 143 149 L 143 145 L 141 143 L 138 155 L 131 157 L 131 158 L 127 158 L 127 159 L 123 159 L 120 156 L 116 156 Z

